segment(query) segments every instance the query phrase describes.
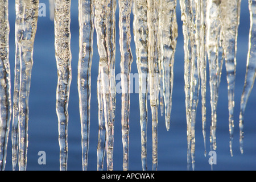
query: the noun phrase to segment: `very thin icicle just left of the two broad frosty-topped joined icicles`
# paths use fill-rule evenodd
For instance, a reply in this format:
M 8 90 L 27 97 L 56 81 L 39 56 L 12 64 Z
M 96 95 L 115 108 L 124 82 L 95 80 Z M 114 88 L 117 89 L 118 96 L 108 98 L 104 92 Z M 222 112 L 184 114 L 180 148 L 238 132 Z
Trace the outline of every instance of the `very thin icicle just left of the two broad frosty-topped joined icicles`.
M 202 104 L 202 129 L 204 138 L 204 155 L 207 155 L 206 151 L 206 87 L 207 87 L 207 54 L 205 47 L 205 13 L 206 13 L 206 3 L 207 1 L 200 1 L 200 75 L 201 75 L 201 104 Z

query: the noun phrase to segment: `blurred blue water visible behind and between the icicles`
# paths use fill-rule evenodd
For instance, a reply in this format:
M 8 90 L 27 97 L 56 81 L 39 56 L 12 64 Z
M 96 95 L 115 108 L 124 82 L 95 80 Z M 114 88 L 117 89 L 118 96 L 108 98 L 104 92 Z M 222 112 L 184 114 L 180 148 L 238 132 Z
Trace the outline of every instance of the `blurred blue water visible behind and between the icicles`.
M 15 60 L 15 1 L 9 1 L 10 20 L 10 66 L 12 97 L 14 85 L 14 60 Z M 27 170 L 59 170 L 59 143 L 57 130 L 57 116 L 55 111 L 57 72 L 54 48 L 54 26 L 49 19 L 48 1 L 46 3 L 46 17 L 39 17 L 38 30 L 34 44 L 34 65 L 32 68 L 31 89 L 29 99 L 29 125 L 28 125 L 28 158 Z M 120 72 L 119 53 L 119 28 L 117 7 L 117 38 L 116 38 L 116 64 L 115 74 Z M 133 20 L 133 18 L 132 18 Z M 174 64 L 174 91 L 172 97 L 171 128 L 166 130 L 164 117 L 159 114 L 158 120 L 158 169 L 159 170 L 186 170 L 187 169 L 187 131 L 185 118 L 185 93 L 184 93 L 184 51 L 182 22 L 180 19 L 180 6 L 177 2 L 177 22 L 179 37 Z M 131 27 L 132 23 L 131 23 Z M 242 1 L 241 21 L 237 45 L 237 77 L 234 108 L 234 140 L 233 154 L 229 152 L 229 126 L 228 126 L 228 92 L 226 83 L 225 65 L 219 90 L 217 107 L 217 164 L 214 170 L 255 170 L 256 169 L 256 90 L 251 91 L 245 115 L 244 154 L 239 150 L 239 113 L 240 100 L 245 79 L 246 59 L 249 38 L 249 10 L 248 2 Z M 68 124 L 68 170 L 82 170 L 81 160 L 81 126 L 79 115 L 79 96 L 77 91 L 77 64 L 79 58 L 79 22 L 78 2 L 72 1 L 71 7 L 71 50 L 72 50 L 72 83 L 69 98 L 69 124 Z M 137 72 L 135 44 L 132 38 L 133 64 L 131 73 Z M 94 53 L 92 63 L 92 99 L 88 170 L 97 169 L 97 94 L 96 84 L 98 75 L 98 52 L 96 32 L 94 31 Z M 207 71 L 209 70 L 207 66 Z M 207 77 L 209 81 L 209 73 Z M 119 80 L 117 80 L 117 83 Z M 204 142 L 201 129 L 201 97 L 197 109 L 196 118 L 196 170 L 210 170 L 209 156 L 204 156 Z M 148 107 L 148 169 L 152 167 L 152 135 L 151 113 Z M 160 112 L 159 112 L 160 113 Z M 129 169 L 141 170 L 141 134 L 139 125 L 139 97 L 137 93 L 130 96 L 130 150 Z M 12 123 L 11 123 L 12 125 Z M 207 154 L 209 147 L 210 128 L 210 89 L 207 85 Z M 10 127 L 11 129 L 11 127 Z M 121 94 L 117 94 L 117 109 L 114 125 L 114 170 L 122 170 L 122 138 L 121 138 Z M 11 170 L 11 130 L 7 153 L 6 170 Z M 46 165 L 38 164 L 38 152 L 46 152 Z M 105 158 L 106 160 L 106 158 Z M 106 169 L 106 162 L 104 164 Z

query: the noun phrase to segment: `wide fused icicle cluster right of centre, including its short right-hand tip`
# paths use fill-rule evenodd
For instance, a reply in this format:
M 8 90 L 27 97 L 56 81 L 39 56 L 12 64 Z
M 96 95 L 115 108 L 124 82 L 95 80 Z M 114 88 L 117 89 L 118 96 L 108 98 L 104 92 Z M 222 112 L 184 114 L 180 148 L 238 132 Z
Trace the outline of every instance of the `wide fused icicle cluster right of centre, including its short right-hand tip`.
M 170 129 L 174 53 L 177 39 L 176 1 L 135 1 L 134 42 L 139 73 L 142 169 L 147 170 L 147 93 L 152 113 L 152 170 L 158 166 L 158 105 Z M 156 87 L 155 85 L 159 85 Z

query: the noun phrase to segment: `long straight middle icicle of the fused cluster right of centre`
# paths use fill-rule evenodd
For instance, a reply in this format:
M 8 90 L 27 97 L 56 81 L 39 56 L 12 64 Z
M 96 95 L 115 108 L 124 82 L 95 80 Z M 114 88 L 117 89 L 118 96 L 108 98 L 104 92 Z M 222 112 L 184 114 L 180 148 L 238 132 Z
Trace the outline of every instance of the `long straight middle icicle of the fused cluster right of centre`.
M 156 48 L 158 31 L 158 1 L 147 1 L 148 19 L 148 73 L 150 82 L 150 106 L 152 113 L 152 170 L 158 167 L 158 76 L 156 74 Z

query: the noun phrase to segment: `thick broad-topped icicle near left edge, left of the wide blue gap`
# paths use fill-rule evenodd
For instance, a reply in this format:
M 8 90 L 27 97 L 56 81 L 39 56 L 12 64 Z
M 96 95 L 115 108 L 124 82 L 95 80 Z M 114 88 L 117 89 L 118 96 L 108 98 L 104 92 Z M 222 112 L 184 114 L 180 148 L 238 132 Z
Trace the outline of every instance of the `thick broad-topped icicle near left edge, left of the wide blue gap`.
M 20 61 L 19 67 L 19 97 L 18 97 L 18 138 L 16 131 L 13 136 L 19 143 L 19 170 L 24 171 L 27 167 L 28 146 L 28 97 L 30 93 L 30 80 L 33 64 L 33 48 L 38 22 L 39 1 L 16 0 L 16 24 L 15 40 L 17 53 L 16 61 Z M 17 68 L 16 68 L 17 69 Z M 16 91 L 16 90 L 15 90 Z M 17 108 L 15 108 L 17 109 Z M 15 142 L 14 142 L 15 143 Z M 16 146 L 13 146 L 13 149 Z M 14 159 L 15 160 L 15 159 Z M 13 162 L 14 162 L 13 160 Z M 14 162 L 15 163 L 15 162 Z M 13 167 L 15 168 L 15 167 Z

